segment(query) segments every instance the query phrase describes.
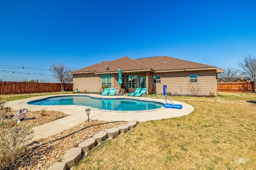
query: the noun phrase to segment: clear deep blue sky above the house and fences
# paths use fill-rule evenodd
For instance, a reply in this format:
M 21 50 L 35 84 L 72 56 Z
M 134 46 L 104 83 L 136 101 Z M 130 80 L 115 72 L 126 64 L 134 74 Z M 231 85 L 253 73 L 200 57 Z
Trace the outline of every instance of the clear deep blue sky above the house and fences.
M 255 0 L 1 0 L 0 79 L 57 82 L 52 63 L 77 70 L 124 56 L 237 67 L 256 55 L 255 6 Z

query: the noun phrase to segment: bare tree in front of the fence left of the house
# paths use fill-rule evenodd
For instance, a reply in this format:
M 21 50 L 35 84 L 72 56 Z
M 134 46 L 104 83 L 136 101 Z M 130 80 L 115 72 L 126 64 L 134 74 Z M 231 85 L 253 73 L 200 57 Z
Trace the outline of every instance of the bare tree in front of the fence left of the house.
M 51 71 L 54 74 L 54 78 L 60 82 L 61 90 L 67 90 L 68 86 L 73 82 L 73 76 L 69 74 L 73 69 L 64 66 L 62 63 L 52 63 Z

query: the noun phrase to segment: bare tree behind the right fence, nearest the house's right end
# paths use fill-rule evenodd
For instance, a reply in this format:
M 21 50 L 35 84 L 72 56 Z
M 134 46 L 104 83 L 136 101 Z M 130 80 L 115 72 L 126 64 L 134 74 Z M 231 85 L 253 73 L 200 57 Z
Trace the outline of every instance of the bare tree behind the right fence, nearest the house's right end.
M 223 68 L 224 72 L 218 74 L 219 77 L 222 77 L 226 82 L 232 82 L 235 78 L 240 76 L 240 70 L 234 67 Z

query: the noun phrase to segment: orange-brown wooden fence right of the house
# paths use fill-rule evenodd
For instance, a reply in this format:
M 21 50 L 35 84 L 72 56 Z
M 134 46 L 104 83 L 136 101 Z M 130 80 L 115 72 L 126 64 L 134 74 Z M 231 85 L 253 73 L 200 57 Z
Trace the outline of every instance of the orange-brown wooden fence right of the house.
M 255 92 L 254 82 L 218 82 L 218 92 Z

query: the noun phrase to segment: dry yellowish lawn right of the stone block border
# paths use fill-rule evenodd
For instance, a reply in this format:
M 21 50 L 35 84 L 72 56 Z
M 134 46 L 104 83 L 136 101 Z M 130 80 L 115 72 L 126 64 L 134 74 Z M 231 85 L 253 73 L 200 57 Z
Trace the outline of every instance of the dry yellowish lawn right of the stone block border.
M 245 101 L 256 101 L 256 94 L 219 94 L 204 100 L 175 98 L 186 100 L 194 112 L 139 123 L 88 152 L 75 169 L 255 169 L 256 105 Z

